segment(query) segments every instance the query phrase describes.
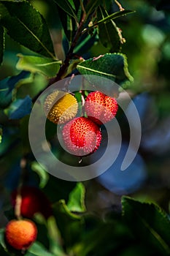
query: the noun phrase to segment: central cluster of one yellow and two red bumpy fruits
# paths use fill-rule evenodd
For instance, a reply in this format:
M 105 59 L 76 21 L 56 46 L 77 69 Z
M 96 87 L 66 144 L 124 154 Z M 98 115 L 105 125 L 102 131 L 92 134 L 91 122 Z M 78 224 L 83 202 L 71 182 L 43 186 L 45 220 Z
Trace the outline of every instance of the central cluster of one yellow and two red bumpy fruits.
M 73 94 L 53 91 L 45 99 L 47 118 L 55 124 L 63 124 L 62 138 L 70 154 L 85 156 L 94 153 L 101 143 L 101 124 L 112 120 L 117 113 L 117 101 L 101 91 L 88 94 L 83 106 L 85 114 L 77 115 L 78 103 Z

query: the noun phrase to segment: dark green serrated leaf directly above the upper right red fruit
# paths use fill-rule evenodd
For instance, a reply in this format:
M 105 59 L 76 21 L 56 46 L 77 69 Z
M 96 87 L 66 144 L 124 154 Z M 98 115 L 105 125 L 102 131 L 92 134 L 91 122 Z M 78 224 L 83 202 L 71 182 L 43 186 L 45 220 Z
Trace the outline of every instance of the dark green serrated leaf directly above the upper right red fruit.
M 126 82 L 133 80 L 128 72 L 126 56 L 121 53 L 107 53 L 97 58 L 88 59 L 78 64 L 77 69 L 82 75 L 93 75 L 93 77 L 85 78 L 90 83 L 100 86 L 101 89 L 102 86 L 107 89 L 107 85 L 102 84 L 102 80 L 98 79 L 98 77 L 108 78 L 122 86 Z

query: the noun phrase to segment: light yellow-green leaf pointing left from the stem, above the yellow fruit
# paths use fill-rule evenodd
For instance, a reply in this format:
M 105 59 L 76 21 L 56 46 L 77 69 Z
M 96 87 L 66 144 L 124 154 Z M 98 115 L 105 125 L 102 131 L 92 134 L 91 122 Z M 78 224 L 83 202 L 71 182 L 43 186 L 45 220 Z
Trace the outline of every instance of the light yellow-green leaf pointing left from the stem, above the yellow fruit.
M 54 78 L 60 69 L 61 61 L 39 56 L 23 56 L 22 54 L 18 54 L 18 57 L 20 58 L 16 66 L 18 69 L 33 73 L 39 72 L 47 78 Z

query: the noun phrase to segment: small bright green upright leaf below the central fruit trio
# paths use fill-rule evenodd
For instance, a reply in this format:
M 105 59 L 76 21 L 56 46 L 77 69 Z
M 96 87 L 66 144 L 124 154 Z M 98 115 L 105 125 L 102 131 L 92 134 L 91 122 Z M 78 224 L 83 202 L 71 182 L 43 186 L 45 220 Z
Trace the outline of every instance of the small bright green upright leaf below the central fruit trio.
M 67 207 L 70 211 L 85 211 L 85 187 L 81 182 L 78 182 L 77 186 L 74 187 L 72 192 L 69 194 Z

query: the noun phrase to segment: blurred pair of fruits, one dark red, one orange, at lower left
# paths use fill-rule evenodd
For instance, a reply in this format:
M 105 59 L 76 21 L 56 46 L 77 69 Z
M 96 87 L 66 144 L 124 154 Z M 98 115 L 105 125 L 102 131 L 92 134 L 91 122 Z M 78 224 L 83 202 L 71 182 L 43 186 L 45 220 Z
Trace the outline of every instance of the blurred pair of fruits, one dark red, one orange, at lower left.
M 12 206 L 17 204 L 18 191 L 12 192 Z M 9 247 L 17 250 L 26 250 L 36 241 L 37 227 L 31 220 L 34 214 L 40 213 L 45 219 L 52 214 L 50 201 L 45 194 L 36 187 L 22 187 L 20 189 L 20 217 L 12 219 L 6 227 L 4 238 Z

